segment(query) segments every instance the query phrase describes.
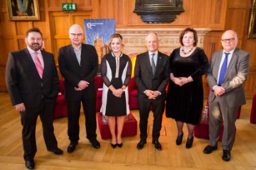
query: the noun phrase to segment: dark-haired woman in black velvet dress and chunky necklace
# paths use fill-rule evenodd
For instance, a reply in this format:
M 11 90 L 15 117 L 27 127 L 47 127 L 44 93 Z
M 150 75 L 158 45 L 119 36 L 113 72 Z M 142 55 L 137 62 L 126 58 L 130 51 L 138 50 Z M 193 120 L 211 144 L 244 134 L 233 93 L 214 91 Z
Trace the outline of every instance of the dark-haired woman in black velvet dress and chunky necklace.
M 173 118 L 178 128 L 176 144 L 182 143 L 183 123 L 187 123 L 186 148 L 191 148 L 194 126 L 200 122 L 203 109 L 202 76 L 206 73 L 208 59 L 203 49 L 196 47 L 196 31 L 186 28 L 180 35 L 182 47 L 170 56 L 170 82 L 166 99 L 166 117 Z

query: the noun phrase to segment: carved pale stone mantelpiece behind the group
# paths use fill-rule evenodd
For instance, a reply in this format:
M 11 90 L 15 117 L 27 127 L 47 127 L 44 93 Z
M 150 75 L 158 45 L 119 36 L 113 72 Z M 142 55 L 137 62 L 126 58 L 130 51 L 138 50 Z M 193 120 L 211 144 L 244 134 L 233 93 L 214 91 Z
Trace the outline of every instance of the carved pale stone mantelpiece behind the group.
M 173 49 L 180 47 L 180 33 L 184 28 L 132 28 L 132 29 L 116 29 L 116 32 L 123 36 L 124 53 L 134 54 L 145 52 L 146 35 L 153 31 L 158 34 L 160 40 L 159 50 L 163 52 L 171 52 Z M 205 35 L 210 31 L 208 28 L 196 28 L 198 33 L 198 47 L 203 48 L 203 40 Z

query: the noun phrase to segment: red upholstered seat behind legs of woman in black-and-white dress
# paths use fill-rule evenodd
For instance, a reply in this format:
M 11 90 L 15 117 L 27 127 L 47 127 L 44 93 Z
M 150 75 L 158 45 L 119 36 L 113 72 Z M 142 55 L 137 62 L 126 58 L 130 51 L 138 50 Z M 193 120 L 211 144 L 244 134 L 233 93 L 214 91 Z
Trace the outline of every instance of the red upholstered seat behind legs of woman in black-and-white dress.
M 101 134 L 101 138 L 110 139 L 111 134 L 108 128 L 108 124 L 107 124 L 107 121 L 106 122 L 102 121 L 101 112 L 98 113 L 97 118 L 98 118 L 98 126 L 99 126 L 99 132 Z M 116 130 L 117 130 L 117 127 L 115 125 L 115 134 L 117 133 Z M 134 118 L 134 116 L 130 112 L 128 116 L 128 120 L 124 121 L 122 137 L 133 136 L 133 135 L 137 135 L 137 120 Z

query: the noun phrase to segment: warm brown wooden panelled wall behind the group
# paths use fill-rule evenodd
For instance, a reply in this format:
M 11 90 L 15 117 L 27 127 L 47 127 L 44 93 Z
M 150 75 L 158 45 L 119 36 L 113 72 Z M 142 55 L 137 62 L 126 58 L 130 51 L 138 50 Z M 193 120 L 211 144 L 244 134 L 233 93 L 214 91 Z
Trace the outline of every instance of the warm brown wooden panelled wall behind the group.
M 77 12 L 62 12 L 62 3 L 76 2 Z M 209 56 L 221 49 L 221 34 L 234 29 L 239 36 L 238 47 L 248 51 L 250 75 L 245 84 L 246 97 L 256 93 L 256 39 L 247 39 L 251 0 L 183 0 L 185 12 L 171 24 L 145 24 L 133 13 L 135 0 L 38 0 L 40 21 L 10 21 L 5 1 L 0 1 L 0 91 L 6 91 L 4 69 L 8 52 L 26 46 L 24 36 L 30 27 L 39 27 L 44 35 L 45 48 L 55 54 L 59 47 L 69 44 L 71 24 L 83 26 L 83 19 L 115 19 L 117 28 L 137 27 L 207 27 L 212 29 L 205 37 L 204 49 Z M 57 60 L 56 60 L 57 61 Z M 58 63 L 57 63 L 58 65 Z

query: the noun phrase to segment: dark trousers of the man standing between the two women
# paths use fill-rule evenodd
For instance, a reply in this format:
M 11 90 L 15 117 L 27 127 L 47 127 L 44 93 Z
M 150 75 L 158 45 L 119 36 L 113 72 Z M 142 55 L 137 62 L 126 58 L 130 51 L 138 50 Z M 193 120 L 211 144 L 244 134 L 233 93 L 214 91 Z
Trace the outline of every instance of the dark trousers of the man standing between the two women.
M 163 95 L 163 94 L 162 94 Z M 139 115 L 140 115 L 140 130 L 141 130 L 141 140 L 146 140 L 148 137 L 148 115 L 150 111 L 150 105 L 153 106 L 153 140 L 158 140 L 160 136 L 160 130 L 162 127 L 162 116 L 164 113 L 164 97 L 158 97 L 155 100 L 148 99 L 146 95 L 139 95 Z

